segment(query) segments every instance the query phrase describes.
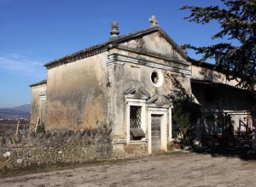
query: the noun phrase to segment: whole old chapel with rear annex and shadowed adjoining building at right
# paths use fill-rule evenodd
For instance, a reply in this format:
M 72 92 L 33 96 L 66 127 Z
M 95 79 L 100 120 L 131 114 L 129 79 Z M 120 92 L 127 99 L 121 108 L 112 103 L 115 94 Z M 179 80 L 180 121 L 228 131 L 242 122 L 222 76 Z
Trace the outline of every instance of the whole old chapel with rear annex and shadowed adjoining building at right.
M 213 65 L 190 60 L 155 16 L 150 23 L 119 36 L 113 21 L 108 42 L 45 64 L 47 79 L 30 85 L 31 128 L 44 123 L 46 131 L 79 132 L 107 122 L 113 150 L 167 151 L 177 139 L 171 96 L 182 89 L 201 107 L 199 142 L 202 133 L 222 133 L 227 122 L 234 133 L 253 134 L 253 95 Z

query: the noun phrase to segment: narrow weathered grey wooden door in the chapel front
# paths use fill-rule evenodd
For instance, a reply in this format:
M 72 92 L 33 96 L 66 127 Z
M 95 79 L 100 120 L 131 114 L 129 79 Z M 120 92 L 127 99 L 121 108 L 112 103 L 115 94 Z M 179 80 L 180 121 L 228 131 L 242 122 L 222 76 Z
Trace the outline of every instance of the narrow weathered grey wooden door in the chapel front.
M 160 150 L 160 144 L 161 144 L 160 127 L 161 127 L 161 116 L 152 115 L 151 116 L 151 149 L 152 151 Z

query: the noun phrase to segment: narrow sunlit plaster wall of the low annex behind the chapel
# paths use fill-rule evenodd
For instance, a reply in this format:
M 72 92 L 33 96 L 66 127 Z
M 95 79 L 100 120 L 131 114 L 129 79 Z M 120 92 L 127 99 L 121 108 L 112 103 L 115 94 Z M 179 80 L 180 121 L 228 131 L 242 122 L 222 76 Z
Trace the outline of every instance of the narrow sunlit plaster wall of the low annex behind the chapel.
M 38 117 L 40 116 L 40 95 L 46 94 L 46 83 L 32 87 L 32 105 L 30 124 L 33 127 L 36 126 Z

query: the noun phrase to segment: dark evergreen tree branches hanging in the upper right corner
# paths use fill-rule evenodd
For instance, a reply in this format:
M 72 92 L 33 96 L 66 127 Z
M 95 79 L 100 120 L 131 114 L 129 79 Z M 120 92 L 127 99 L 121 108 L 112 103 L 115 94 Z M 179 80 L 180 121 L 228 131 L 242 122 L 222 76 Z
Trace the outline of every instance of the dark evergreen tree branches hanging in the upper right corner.
M 218 44 L 205 47 L 186 45 L 203 54 L 201 60 L 215 59 L 216 68 L 221 69 L 229 80 L 236 79 L 237 86 L 252 90 L 256 83 L 256 1 L 255 0 L 221 0 L 224 8 L 219 6 L 198 7 L 185 5 L 190 15 L 184 19 L 199 24 L 218 21 L 220 31 L 212 39 L 221 38 Z M 234 45 L 230 40 L 236 40 Z M 237 79 L 239 77 L 239 79 Z

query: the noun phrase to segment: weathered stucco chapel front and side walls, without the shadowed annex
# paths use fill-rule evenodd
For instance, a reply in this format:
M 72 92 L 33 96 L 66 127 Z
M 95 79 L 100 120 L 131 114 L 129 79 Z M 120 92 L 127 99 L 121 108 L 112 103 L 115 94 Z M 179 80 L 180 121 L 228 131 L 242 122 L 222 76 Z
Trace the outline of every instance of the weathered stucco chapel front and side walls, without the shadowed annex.
M 113 151 L 120 153 L 136 147 L 149 153 L 167 150 L 172 140 L 172 100 L 167 96 L 177 89 L 172 79 L 191 95 L 190 62 L 159 26 L 123 37 L 116 31 L 113 23 L 108 42 L 45 65 L 47 99 L 40 120 L 46 131 L 76 132 L 108 122 Z M 32 91 L 32 97 L 38 93 Z M 32 123 L 42 118 L 37 102 L 32 101 Z

